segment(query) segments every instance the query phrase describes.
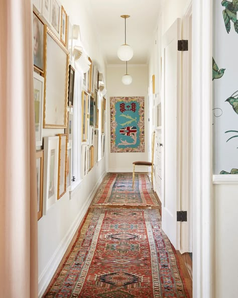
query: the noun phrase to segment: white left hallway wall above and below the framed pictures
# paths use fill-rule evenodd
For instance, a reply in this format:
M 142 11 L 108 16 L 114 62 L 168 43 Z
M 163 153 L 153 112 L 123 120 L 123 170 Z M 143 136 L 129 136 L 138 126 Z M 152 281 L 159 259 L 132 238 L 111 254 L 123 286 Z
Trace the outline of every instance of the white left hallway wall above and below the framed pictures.
M 104 59 L 85 2 L 62 0 L 61 4 L 69 15 L 70 23 L 80 26 L 85 51 L 105 77 Z M 64 133 L 64 130 L 44 129 L 43 137 L 59 133 Z M 71 193 L 71 198 L 67 191 L 38 221 L 39 296 L 42 296 L 57 269 L 104 175 L 105 158 L 102 158 Z

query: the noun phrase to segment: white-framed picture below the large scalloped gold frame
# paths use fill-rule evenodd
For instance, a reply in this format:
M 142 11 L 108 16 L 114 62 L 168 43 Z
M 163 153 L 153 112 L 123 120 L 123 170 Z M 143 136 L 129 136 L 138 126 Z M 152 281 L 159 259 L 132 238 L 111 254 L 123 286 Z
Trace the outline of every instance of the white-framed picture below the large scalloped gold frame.
M 44 137 L 43 211 L 57 202 L 59 137 Z

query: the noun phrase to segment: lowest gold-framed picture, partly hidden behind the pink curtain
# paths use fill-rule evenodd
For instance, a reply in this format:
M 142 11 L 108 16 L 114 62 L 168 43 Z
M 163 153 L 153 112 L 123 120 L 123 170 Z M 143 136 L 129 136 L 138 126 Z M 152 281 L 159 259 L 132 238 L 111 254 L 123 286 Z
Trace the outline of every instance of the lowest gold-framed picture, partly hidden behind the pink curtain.
M 38 221 L 43 215 L 43 157 L 44 151 L 36 151 L 37 214 Z

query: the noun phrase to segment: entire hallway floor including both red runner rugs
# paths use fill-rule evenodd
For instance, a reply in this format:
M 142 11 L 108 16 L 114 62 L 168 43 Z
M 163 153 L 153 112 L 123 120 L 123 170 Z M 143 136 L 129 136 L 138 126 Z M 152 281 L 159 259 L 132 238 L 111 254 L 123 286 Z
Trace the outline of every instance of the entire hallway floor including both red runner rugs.
M 128 173 L 106 175 L 44 298 L 192 297 L 147 175 L 135 184 Z

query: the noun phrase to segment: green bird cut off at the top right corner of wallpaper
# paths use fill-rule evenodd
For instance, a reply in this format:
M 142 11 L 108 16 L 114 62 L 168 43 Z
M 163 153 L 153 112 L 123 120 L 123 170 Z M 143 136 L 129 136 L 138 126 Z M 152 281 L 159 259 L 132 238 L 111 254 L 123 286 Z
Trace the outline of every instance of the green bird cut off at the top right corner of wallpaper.
M 234 30 L 238 33 L 238 21 L 236 17 L 236 13 L 238 12 L 238 0 L 232 0 L 232 2 L 223 0 L 221 5 L 225 7 L 222 11 L 222 15 L 227 33 L 230 32 L 230 21 L 234 23 Z

